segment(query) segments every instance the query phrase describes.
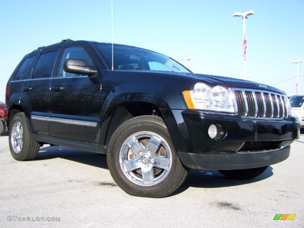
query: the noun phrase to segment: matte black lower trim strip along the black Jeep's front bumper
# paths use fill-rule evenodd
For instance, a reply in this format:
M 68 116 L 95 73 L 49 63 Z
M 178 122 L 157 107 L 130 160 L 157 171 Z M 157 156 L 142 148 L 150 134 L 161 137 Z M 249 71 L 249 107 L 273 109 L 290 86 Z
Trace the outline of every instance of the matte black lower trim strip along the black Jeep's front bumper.
M 191 154 L 178 152 L 181 162 L 195 169 L 250 169 L 268 166 L 289 157 L 290 146 L 272 151 L 248 154 Z

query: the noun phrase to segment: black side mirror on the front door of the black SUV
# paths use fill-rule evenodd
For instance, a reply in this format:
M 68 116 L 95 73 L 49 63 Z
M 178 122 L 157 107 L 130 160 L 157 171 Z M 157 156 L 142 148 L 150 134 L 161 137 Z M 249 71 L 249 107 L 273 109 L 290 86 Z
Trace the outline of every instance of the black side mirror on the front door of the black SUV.
M 97 73 L 95 67 L 88 64 L 86 60 L 83 59 L 67 59 L 63 64 L 63 70 L 65 72 L 74 74 L 88 74 L 89 77 L 94 77 Z M 96 75 L 95 75 L 96 76 Z

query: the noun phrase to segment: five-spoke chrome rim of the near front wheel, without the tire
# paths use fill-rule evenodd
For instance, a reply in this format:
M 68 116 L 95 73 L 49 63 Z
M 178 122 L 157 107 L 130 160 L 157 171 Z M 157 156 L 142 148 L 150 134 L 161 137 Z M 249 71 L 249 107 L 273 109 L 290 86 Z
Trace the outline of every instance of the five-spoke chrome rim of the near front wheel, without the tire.
M 156 185 L 168 175 L 172 155 L 168 143 L 158 134 L 138 132 L 126 139 L 120 149 L 120 167 L 137 185 Z

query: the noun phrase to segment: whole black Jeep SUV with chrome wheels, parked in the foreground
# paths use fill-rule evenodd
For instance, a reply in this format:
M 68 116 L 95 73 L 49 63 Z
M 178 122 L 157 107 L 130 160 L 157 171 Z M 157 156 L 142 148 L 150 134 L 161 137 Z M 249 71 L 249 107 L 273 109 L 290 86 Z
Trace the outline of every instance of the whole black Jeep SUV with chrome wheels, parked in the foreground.
M 16 160 L 35 159 L 46 143 L 107 154 L 116 183 L 146 197 L 174 192 L 189 168 L 254 178 L 299 138 L 281 90 L 91 41 L 27 54 L 7 83 L 5 110 Z

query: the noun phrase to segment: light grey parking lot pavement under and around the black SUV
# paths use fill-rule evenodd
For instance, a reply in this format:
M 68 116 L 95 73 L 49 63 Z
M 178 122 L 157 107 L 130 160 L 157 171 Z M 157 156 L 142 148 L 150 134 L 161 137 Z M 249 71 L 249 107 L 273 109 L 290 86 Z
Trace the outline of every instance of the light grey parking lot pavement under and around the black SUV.
M 123 192 L 105 156 L 44 146 L 35 161 L 19 162 L 1 136 L 0 227 L 304 227 L 303 148 L 302 134 L 286 161 L 253 180 L 191 170 L 174 195 L 149 199 Z

